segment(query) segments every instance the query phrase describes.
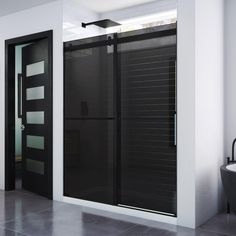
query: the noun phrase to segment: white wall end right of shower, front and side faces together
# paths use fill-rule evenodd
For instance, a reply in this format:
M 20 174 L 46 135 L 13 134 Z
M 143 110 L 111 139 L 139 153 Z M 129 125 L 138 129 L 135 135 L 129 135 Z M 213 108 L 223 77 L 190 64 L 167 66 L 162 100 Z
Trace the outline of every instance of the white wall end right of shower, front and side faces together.
M 178 223 L 196 227 L 222 205 L 223 0 L 178 1 Z

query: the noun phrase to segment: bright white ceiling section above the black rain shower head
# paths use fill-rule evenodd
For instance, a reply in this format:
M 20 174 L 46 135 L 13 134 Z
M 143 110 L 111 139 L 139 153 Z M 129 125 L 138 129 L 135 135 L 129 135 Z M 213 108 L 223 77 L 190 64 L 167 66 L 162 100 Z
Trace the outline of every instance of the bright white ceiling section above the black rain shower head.
M 104 13 L 143 3 L 154 2 L 157 0 L 74 0 L 74 1 L 92 11 L 95 11 L 97 13 Z

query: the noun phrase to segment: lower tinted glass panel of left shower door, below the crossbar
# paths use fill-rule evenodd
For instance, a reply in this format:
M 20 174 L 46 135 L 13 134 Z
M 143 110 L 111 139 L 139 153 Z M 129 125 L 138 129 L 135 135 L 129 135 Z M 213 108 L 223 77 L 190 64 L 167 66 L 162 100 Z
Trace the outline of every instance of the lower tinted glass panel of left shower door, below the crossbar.
M 66 120 L 66 196 L 113 204 L 113 124 Z

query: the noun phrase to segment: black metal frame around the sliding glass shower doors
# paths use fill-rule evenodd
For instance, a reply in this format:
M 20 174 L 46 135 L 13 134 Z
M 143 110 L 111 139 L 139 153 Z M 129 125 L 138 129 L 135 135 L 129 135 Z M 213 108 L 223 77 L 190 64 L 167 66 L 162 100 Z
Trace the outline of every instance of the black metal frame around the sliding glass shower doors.
M 114 107 L 115 107 L 115 113 L 116 113 L 116 129 L 115 129 L 115 135 L 116 135 L 116 141 L 115 141 L 115 148 L 114 152 L 116 153 L 116 157 L 114 158 L 114 204 L 115 206 L 127 208 L 127 209 L 135 209 L 135 207 L 129 207 L 129 206 L 121 206 L 119 205 L 120 202 L 120 189 L 121 189 L 121 182 L 120 182 L 120 177 L 121 177 L 121 104 L 120 104 L 120 94 L 121 94 L 121 84 L 120 84 L 120 72 L 119 72 L 119 67 L 120 67 L 120 58 L 117 53 L 117 46 L 122 43 L 129 43 L 129 42 L 136 42 L 136 41 L 142 41 L 142 40 L 148 40 L 152 38 L 159 38 L 159 37 L 164 37 L 164 36 L 171 36 L 171 35 L 177 35 L 177 23 L 171 23 L 168 25 L 164 26 L 154 26 L 151 28 L 156 28 L 157 30 L 151 31 L 151 32 L 144 32 L 142 34 L 137 34 L 137 35 L 127 35 L 126 33 L 113 33 L 113 34 L 106 34 L 106 35 L 113 35 L 114 38 L 108 38 L 107 40 L 101 40 L 101 41 L 96 41 L 96 42 L 89 42 L 89 43 L 81 43 L 78 45 L 69 45 L 66 47 L 66 45 L 70 42 L 75 42 L 75 41 L 80 41 L 80 39 L 77 40 L 72 40 L 69 42 L 64 42 L 63 44 L 63 49 L 64 49 L 64 90 L 63 90 L 63 99 L 64 99 L 64 114 L 63 114 L 63 122 L 64 122 L 64 127 L 63 127 L 63 137 L 64 137 L 64 152 L 63 152 L 63 172 L 64 172 L 64 179 L 63 179 L 63 193 L 66 197 L 71 197 L 66 195 L 65 192 L 65 172 L 66 172 L 66 153 L 65 153 L 65 121 L 66 121 L 66 113 L 65 113 L 65 93 L 66 93 L 66 76 L 65 76 L 65 54 L 68 51 L 73 51 L 73 50 L 83 50 L 83 49 L 88 49 L 88 48 L 96 48 L 96 47 L 102 47 L 102 46 L 107 46 L 107 45 L 113 45 L 114 46 L 114 74 L 113 74 L 113 80 L 114 80 Z M 140 31 L 140 30 L 137 30 Z M 118 37 L 120 35 L 124 35 L 123 37 Z M 91 39 L 95 39 L 98 36 L 91 37 Z M 81 39 L 83 40 L 83 39 Z M 176 56 L 177 56 L 177 38 L 176 38 Z M 177 58 L 176 58 L 177 60 Z M 175 78 L 175 86 L 176 86 L 176 124 L 177 124 L 177 68 L 176 68 L 176 78 Z M 176 126 L 176 143 L 177 143 L 177 126 Z M 176 145 L 176 158 L 177 158 L 177 145 Z M 176 188 L 177 188 L 177 166 L 176 166 Z M 177 189 L 176 189 L 177 192 Z M 83 199 L 82 199 L 83 200 Z M 176 202 L 177 204 L 177 202 Z M 110 205 L 110 204 L 109 204 Z M 142 209 L 142 208 L 137 208 L 139 211 L 143 212 L 158 212 L 158 211 L 152 211 L 148 209 Z M 169 216 L 167 213 L 163 212 L 158 212 L 159 215 L 164 215 L 164 216 Z M 176 217 L 177 214 L 173 214 L 173 217 Z

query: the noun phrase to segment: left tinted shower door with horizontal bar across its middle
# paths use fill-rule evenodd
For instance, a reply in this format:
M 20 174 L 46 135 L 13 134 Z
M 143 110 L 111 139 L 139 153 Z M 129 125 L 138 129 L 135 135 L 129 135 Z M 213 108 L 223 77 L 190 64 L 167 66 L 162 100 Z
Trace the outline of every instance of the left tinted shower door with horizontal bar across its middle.
M 113 46 L 107 39 L 65 43 L 64 193 L 113 204 Z

